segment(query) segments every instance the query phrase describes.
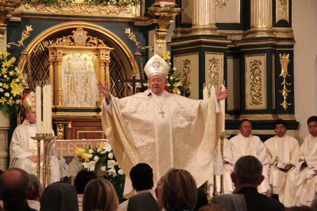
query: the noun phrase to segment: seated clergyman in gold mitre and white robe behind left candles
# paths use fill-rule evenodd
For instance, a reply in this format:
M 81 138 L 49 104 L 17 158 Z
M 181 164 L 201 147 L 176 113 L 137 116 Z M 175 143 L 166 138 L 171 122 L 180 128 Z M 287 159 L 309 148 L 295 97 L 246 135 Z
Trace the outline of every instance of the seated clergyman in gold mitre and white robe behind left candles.
M 31 138 L 35 137 L 36 134 L 36 101 L 33 91 L 23 95 L 22 106 L 26 112 L 26 119 L 24 121 L 22 120 L 21 125 L 16 127 L 12 134 L 9 168 L 15 167 L 23 169 L 28 173 L 36 175 L 38 161 L 37 140 Z M 52 133 L 54 135 L 53 130 Z M 41 144 L 41 152 L 43 152 L 43 141 Z M 40 161 L 43 161 L 43 154 L 41 154 Z

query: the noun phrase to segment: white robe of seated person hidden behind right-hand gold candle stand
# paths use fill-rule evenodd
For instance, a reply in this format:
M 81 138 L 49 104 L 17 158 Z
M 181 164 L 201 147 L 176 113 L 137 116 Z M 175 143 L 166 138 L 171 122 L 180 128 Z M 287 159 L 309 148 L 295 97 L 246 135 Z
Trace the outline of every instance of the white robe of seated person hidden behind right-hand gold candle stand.
M 220 160 L 220 161 L 218 161 Z M 217 193 L 220 193 L 221 188 L 221 181 L 220 181 L 220 175 L 223 174 L 223 190 L 224 194 L 232 194 L 234 184 L 231 180 L 230 174 L 233 170 L 233 163 L 235 159 L 233 158 L 233 154 L 231 152 L 231 146 L 228 139 L 223 139 L 223 161 L 221 157 L 221 146 L 220 146 L 220 139 L 218 143 L 218 151 L 215 153 L 214 157 L 214 164 L 213 164 L 213 175 L 216 175 L 216 187 L 217 187 Z M 219 164 L 221 166 L 219 166 Z M 210 185 L 210 193 L 213 193 L 214 189 L 214 176 L 209 179 L 209 185 Z

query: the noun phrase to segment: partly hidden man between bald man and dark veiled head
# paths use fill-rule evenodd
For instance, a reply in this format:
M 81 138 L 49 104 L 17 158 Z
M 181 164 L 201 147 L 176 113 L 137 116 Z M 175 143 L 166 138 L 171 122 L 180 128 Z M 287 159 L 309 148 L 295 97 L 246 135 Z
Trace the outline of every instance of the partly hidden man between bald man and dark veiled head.
M 39 211 L 40 210 L 40 202 L 41 202 L 41 196 L 43 193 L 42 184 L 39 180 L 39 178 L 33 174 L 30 173 L 30 179 L 31 179 L 31 186 L 33 187 L 33 194 L 28 200 L 28 204 L 30 208 Z

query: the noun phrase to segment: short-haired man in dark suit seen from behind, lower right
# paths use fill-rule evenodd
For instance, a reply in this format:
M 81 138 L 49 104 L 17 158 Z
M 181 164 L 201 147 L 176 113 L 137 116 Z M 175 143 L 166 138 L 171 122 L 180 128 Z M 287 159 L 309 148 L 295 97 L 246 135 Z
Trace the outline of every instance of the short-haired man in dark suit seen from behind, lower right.
M 258 192 L 258 186 L 264 181 L 262 169 L 262 163 L 254 156 L 239 158 L 231 173 L 234 194 L 214 197 L 213 202 L 231 211 L 284 211 L 281 203 Z

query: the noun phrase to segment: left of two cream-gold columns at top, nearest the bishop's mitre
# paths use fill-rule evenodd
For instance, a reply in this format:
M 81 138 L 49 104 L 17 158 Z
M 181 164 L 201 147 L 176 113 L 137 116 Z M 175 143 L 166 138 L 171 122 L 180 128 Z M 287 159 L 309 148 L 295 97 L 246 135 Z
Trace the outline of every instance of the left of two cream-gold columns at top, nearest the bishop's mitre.
M 217 35 L 214 0 L 193 0 L 192 24 L 190 35 Z

